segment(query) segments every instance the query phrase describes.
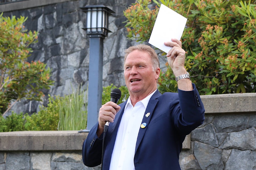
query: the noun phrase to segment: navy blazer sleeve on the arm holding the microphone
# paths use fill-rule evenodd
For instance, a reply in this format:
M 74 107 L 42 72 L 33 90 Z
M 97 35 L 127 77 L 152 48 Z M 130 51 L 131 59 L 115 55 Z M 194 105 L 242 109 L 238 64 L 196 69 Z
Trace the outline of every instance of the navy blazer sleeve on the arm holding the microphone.
M 95 167 L 101 164 L 103 135 L 98 138 L 97 128 L 98 123 L 93 126 L 83 142 L 82 158 L 87 167 Z

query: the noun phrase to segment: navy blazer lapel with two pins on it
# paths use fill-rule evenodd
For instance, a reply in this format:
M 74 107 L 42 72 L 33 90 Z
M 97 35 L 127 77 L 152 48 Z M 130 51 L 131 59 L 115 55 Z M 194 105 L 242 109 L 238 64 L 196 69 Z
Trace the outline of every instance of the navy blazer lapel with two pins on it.
M 152 114 L 154 112 L 154 109 L 155 109 L 155 106 L 157 105 L 157 98 L 161 96 L 161 93 L 157 90 L 153 96 L 150 98 L 149 100 L 149 103 L 147 104 L 147 108 L 146 108 L 146 111 L 145 111 L 145 114 L 143 116 L 143 119 L 142 119 L 142 122 L 141 123 L 146 123 L 147 125 L 149 124 L 150 122 L 150 119 L 152 117 Z M 148 117 L 146 117 L 145 115 L 147 113 L 150 113 Z M 144 137 L 144 134 L 147 130 L 147 126 L 145 128 L 140 128 L 139 129 L 139 134 L 138 134 L 138 138 L 137 138 L 137 142 L 136 142 L 136 147 L 135 147 L 135 153 L 139 147 L 139 144 L 141 143 L 141 140 L 143 139 Z

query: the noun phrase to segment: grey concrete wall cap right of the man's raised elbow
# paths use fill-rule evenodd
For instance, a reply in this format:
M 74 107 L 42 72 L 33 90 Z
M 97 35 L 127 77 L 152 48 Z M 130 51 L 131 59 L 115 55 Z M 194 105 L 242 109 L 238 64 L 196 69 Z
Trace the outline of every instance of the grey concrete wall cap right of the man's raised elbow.
M 236 93 L 200 96 L 205 113 L 256 112 L 256 93 Z

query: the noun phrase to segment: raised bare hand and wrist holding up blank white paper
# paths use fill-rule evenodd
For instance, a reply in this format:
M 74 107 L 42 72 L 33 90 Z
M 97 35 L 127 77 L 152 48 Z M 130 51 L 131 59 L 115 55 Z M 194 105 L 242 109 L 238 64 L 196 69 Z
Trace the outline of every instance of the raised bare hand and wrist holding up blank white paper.
M 187 18 L 161 4 L 149 39 L 149 44 L 167 53 L 168 64 L 175 77 L 187 72 L 184 67 L 186 52 L 180 41 L 186 22 Z M 193 90 L 190 79 L 181 79 L 177 84 L 180 90 Z

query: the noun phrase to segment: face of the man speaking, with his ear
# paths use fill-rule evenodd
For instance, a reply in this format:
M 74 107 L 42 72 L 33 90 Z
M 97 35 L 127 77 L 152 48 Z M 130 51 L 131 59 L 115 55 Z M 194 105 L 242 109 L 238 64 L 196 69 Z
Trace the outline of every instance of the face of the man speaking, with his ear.
M 151 57 L 147 52 L 134 50 L 124 63 L 125 83 L 130 96 L 146 97 L 157 88 L 160 69 L 153 71 Z

